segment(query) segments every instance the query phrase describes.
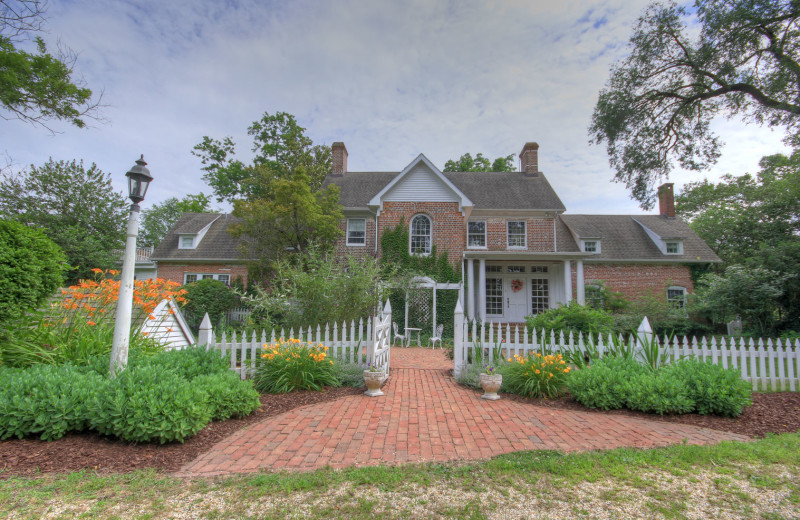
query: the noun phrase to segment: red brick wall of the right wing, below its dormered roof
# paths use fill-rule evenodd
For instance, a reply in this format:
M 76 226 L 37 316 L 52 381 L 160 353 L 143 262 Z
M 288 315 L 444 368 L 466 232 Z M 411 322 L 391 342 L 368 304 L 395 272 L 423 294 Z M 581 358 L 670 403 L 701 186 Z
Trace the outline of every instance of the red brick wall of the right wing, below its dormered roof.
M 572 290 L 577 297 L 575 263 L 572 263 Z M 658 264 L 583 264 L 583 279 L 587 285 L 593 281 L 604 280 L 606 287 L 614 292 L 622 293 L 626 300 L 636 300 L 642 296 L 653 294 L 656 297 L 667 297 L 667 287 L 672 285 L 685 287 L 687 292 L 694 291 L 691 271 L 686 265 Z

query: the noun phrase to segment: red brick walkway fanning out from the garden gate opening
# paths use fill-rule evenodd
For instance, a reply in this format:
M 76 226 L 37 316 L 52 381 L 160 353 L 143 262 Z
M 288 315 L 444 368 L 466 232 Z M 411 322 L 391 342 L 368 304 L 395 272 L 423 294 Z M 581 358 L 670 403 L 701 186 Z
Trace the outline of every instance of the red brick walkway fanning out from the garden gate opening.
M 485 401 L 447 375 L 452 362 L 438 349 L 393 348 L 392 367 L 383 397 L 349 396 L 270 417 L 223 439 L 179 475 L 747 440 L 682 424 Z

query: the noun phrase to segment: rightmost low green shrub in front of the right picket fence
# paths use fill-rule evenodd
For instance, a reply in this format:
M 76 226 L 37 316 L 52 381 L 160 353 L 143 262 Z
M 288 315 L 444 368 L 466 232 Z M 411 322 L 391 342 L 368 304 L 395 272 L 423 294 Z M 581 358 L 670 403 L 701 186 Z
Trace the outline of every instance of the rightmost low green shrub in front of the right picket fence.
M 665 371 L 684 381 L 699 414 L 738 417 L 752 402 L 750 383 L 735 368 L 685 359 Z

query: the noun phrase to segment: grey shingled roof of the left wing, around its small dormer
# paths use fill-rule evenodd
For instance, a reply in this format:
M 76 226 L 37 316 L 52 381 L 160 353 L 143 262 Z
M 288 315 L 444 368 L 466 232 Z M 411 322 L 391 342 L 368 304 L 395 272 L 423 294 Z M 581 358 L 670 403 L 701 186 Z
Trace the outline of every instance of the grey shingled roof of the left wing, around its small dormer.
M 228 228 L 239 222 L 229 214 L 184 213 L 150 255 L 151 260 L 224 260 L 242 261 L 240 241 L 228 233 Z M 178 249 L 178 236 L 197 233 L 211 223 L 203 239 L 194 249 Z M 195 231 L 188 231 L 195 230 Z

